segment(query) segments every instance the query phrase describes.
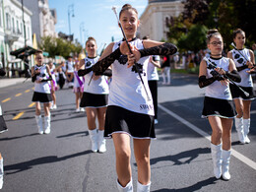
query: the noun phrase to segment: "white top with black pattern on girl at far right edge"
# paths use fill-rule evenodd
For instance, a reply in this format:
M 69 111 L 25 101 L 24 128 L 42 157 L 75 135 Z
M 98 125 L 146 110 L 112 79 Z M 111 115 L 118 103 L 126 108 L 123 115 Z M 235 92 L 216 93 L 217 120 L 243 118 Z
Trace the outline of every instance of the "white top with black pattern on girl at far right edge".
M 243 65 L 246 65 L 246 60 L 244 59 L 244 57 L 248 61 L 251 60 L 250 51 L 247 48 L 243 48 L 242 50 L 239 50 L 239 52 L 242 55 L 244 55 L 244 57 L 236 49 L 232 49 L 231 52 L 232 52 L 232 58 L 236 67 L 242 67 Z M 241 82 L 237 83 L 237 85 L 242 87 L 253 87 L 251 74 L 247 73 L 246 71 L 248 71 L 248 68 L 238 72 L 241 77 Z

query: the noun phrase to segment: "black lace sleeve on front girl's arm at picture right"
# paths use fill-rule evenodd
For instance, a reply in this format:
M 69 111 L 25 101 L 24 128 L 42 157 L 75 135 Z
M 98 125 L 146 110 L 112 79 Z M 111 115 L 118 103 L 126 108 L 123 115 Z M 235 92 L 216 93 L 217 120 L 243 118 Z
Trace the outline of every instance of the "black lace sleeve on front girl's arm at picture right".
M 141 57 L 150 55 L 172 55 L 177 52 L 177 47 L 169 42 L 165 42 L 159 46 L 154 46 L 151 48 L 140 49 Z

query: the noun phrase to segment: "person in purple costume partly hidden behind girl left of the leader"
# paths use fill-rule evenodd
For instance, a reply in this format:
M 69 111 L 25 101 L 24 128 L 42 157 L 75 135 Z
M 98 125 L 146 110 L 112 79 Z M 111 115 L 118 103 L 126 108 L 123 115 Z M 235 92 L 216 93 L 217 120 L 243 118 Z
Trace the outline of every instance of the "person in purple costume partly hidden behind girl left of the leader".
M 76 95 L 76 112 L 80 112 L 80 111 L 85 111 L 85 109 L 83 107 L 80 107 L 80 100 L 83 96 L 83 92 L 84 92 L 84 82 L 85 79 L 84 77 L 79 77 L 78 76 L 78 69 L 79 69 L 79 61 L 81 59 L 77 60 L 74 68 L 74 87 L 73 87 L 73 92 Z

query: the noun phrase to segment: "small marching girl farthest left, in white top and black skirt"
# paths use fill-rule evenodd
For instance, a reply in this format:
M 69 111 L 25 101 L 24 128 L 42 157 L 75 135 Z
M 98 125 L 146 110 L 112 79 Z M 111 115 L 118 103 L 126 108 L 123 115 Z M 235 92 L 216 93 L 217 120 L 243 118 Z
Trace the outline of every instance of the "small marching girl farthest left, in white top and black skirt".
M 50 133 L 50 81 L 52 76 L 48 65 L 43 64 L 42 51 L 35 52 L 36 65 L 32 66 L 32 82 L 34 82 L 34 92 L 32 101 L 35 102 L 35 120 L 39 134 Z M 42 128 L 41 106 L 44 109 L 44 130 Z

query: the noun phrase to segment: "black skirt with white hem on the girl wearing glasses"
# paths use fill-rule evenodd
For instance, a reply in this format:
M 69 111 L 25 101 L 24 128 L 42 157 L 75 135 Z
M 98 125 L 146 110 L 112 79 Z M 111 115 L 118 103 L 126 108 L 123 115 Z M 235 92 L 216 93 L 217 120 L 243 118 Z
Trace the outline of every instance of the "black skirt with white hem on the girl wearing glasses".
M 232 100 L 205 96 L 202 117 L 220 116 L 222 118 L 234 118 L 236 114 Z

